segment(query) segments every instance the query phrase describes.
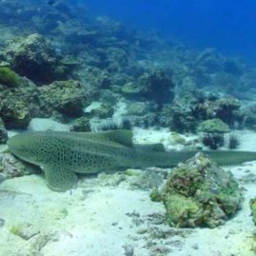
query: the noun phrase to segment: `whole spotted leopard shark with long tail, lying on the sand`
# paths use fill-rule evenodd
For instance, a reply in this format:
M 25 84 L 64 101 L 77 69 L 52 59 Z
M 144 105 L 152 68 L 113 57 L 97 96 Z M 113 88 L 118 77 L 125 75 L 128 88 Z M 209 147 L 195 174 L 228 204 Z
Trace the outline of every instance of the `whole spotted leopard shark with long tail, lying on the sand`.
M 75 187 L 77 173 L 96 173 L 128 167 L 174 167 L 197 150 L 165 151 L 162 144 L 136 145 L 130 130 L 98 133 L 31 131 L 11 137 L 10 152 L 43 169 L 49 188 L 65 191 Z M 204 151 L 220 165 L 256 160 L 251 151 Z

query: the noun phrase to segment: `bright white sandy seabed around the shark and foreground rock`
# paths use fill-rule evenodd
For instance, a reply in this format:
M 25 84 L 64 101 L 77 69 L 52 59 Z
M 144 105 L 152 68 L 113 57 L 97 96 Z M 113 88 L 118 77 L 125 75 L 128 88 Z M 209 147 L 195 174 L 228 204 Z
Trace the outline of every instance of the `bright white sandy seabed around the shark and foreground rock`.
M 156 137 L 150 132 L 144 133 L 148 143 L 161 138 L 163 142 L 167 136 L 166 131 L 153 133 L 158 134 Z M 254 136 L 243 132 L 241 148 L 253 149 Z M 43 176 L 7 180 L 0 184 L 0 218 L 5 220 L 0 227 L 0 255 L 255 255 L 251 250 L 254 227 L 248 201 L 256 196 L 256 186 L 252 182 L 244 184 L 243 180 L 248 174 L 256 176 L 256 162 L 226 169 L 244 187 L 245 202 L 225 226 L 213 229 L 157 224 L 152 216 L 163 216 L 163 205 L 151 202 L 149 191 L 131 189 L 122 183 L 118 187 L 100 186 L 98 178 L 91 177 L 80 180 L 78 188 L 59 193 L 46 186 Z M 21 234 L 13 234 L 15 228 Z M 128 252 L 131 248 L 133 254 Z

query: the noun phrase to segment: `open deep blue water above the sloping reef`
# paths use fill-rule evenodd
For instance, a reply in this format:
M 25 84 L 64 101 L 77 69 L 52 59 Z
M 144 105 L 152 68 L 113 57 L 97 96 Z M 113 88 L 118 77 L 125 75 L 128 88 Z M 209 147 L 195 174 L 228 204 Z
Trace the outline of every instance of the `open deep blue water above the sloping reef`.
M 85 2 L 85 0 L 81 0 Z M 215 48 L 256 60 L 253 0 L 87 0 L 96 14 L 133 28 L 160 30 L 194 48 Z

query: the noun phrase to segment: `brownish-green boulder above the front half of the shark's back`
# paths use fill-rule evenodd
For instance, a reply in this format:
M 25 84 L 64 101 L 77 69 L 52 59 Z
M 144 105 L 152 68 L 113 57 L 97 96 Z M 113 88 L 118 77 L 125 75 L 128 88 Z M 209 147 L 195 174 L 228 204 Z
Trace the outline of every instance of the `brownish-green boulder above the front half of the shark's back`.
M 41 108 L 52 113 L 57 111 L 68 117 L 83 114 L 86 93 L 79 82 L 55 81 L 40 88 Z

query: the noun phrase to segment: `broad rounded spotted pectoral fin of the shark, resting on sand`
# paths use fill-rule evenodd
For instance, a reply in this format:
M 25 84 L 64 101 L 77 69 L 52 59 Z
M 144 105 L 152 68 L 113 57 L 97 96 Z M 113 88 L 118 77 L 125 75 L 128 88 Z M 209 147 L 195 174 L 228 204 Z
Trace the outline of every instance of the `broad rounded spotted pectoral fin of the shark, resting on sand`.
M 77 182 L 77 176 L 68 167 L 42 167 L 46 174 L 49 188 L 56 191 L 65 191 L 73 188 Z

